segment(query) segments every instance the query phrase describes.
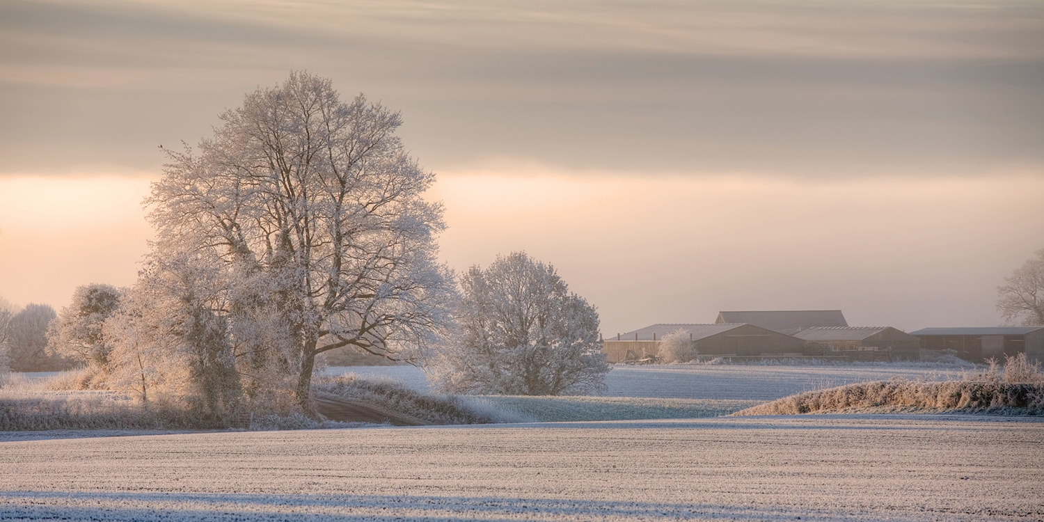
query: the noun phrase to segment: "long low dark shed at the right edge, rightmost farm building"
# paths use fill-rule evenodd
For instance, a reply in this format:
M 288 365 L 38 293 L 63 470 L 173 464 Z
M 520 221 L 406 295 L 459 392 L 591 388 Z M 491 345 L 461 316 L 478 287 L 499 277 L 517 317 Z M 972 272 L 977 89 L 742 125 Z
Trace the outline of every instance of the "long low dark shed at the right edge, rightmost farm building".
M 1044 361 L 1044 327 L 925 328 L 910 332 L 925 350 L 952 350 L 957 357 L 978 361 L 1025 353 Z

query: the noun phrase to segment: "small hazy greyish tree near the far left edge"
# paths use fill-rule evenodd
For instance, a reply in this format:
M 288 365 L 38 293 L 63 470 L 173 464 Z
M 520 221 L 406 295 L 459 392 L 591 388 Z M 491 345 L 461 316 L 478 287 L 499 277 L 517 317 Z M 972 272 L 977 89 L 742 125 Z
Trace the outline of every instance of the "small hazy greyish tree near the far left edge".
M 50 305 L 29 303 L 10 318 L 7 355 L 15 372 L 53 372 L 69 361 L 47 353 L 47 328 L 56 314 Z

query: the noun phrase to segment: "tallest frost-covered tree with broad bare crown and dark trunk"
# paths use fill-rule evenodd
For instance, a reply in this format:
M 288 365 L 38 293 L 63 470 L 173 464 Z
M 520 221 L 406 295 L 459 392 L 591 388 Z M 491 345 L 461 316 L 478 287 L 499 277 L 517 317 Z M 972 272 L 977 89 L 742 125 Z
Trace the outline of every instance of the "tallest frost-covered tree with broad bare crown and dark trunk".
M 340 347 L 416 360 L 449 321 L 445 228 L 399 114 L 295 72 L 247 94 L 197 150 L 169 152 L 147 203 L 158 252 L 212 263 L 241 357 L 283 357 L 306 411 L 315 356 Z M 279 350 L 265 325 L 281 329 Z M 276 355 L 278 353 L 278 355 Z

